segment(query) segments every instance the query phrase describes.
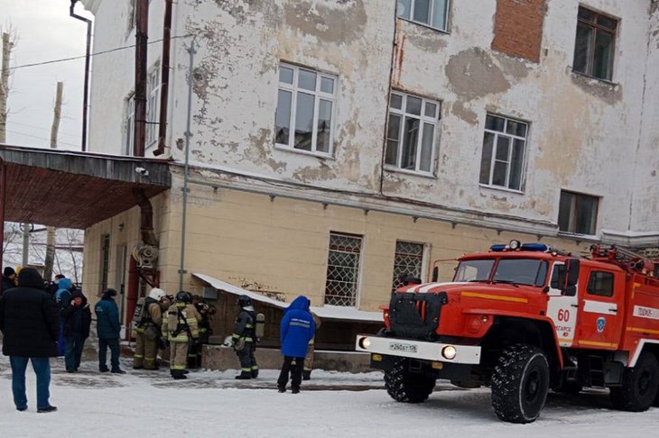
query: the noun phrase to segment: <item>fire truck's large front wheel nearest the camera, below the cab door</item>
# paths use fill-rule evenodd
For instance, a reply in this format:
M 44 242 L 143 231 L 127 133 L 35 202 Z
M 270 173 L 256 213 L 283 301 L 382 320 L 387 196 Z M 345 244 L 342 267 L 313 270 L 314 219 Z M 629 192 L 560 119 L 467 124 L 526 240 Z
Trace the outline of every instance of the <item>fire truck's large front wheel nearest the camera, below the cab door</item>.
M 549 362 L 532 345 L 507 347 L 492 372 L 492 407 L 510 423 L 531 423 L 540 415 L 549 390 Z

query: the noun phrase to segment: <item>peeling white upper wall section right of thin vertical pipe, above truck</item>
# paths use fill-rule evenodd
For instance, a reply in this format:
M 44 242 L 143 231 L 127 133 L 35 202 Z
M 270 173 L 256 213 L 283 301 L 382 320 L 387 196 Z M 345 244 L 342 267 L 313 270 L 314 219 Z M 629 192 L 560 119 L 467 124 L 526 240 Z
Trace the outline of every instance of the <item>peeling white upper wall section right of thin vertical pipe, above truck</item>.
M 579 2 L 547 2 L 539 63 L 489 48 L 497 2 L 452 4 L 450 33 L 434 33 L 434 52 L 427 38 L 418 38 L 432 30 L 399 20 L 396 50 L 404 50 L 404 56 L 395 55 L 395 86 L 442 100 L 441 140 L 435 184 L 429 187 L 426 178 L 407 175 L 400 184 L 401 177 L 389 173 L 387 190 L 556 223 L 560 192 L 567 189 L 602 196 L 598 229 L 627 230 L 635 169 L 630 157 L 636 153 L 643 102 L 647 2 L 582 2 L 620 18 L 612 84 L 571 71 Z M 647 105 L 655 107 L 655 101 Z M 530 123 L 523 194 L 478 185 L 487 113 Z

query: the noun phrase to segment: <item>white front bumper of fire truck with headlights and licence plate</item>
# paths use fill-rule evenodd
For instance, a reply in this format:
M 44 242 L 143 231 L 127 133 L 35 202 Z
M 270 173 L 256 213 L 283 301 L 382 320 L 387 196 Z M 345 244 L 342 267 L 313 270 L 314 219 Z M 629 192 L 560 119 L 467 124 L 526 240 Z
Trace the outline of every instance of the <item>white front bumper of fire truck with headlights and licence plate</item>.
M 355 350 L 369 352 L 371 357 L 374 354 L 381 354 L 383 356 L 398 356 L 445 363 L 469 365 L 478 365 L 480 363 L 480 347 L 475 345 L 422 342 L 358 334 Z

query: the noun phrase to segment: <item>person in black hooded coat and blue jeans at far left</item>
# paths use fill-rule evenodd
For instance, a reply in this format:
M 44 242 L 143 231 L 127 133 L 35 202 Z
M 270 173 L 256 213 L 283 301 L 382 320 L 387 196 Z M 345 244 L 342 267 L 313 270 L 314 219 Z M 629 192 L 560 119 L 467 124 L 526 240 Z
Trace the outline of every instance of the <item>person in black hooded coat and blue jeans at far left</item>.
M 5 335 L 3 354 L 12 365 L 12 390 L 16 409 L 27 409 L 25 370 L 27 362 L 37 376 L 37 412 L 53 412 L 49 403 L 51 357 L 57 356 L 60 324 L 57 305 L 35 269 L 25 268 L 18 275 L 18 287 L 0 297 L 0 331 Z

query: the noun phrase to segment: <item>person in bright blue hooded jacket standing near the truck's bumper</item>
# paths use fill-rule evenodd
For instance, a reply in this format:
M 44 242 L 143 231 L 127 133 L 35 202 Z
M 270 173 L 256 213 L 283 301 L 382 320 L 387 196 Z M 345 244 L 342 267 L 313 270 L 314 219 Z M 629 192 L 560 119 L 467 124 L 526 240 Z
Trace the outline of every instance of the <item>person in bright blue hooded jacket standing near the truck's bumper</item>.
M 291 372 L 291 362 L 302 364 L 307 354 L 307 345 L 316 332 L 316 324 L 309 311 L 309 298 L 300 296 L 295 298 L 288 306 L 280 324 L 280 338 L 282 341 L 283 364 L 282 371 L 277 379 L 279 392 L 286 392 L 288 374 Z M 291 392 L 300 392 L 302 383 L 302 367 L 295 367 L 291 378 Z

